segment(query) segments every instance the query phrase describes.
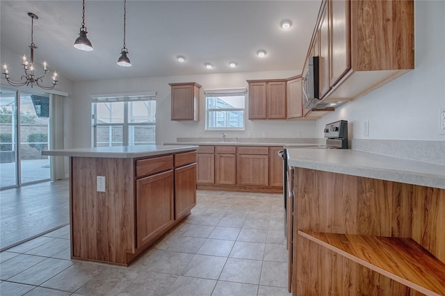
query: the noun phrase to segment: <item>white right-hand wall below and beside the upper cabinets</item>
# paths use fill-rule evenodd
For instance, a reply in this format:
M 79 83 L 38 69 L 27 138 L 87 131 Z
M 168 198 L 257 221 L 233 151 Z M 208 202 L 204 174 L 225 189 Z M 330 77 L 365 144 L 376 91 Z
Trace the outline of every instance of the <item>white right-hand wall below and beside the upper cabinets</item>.
M 415 69 L 316 122 L 316 136 L 348 120 L 356 139 L 445 140 L 439 108 L 445 107 L 445 1 L 414 1 Z M 369 120 L 369 137 L 364 122 Z

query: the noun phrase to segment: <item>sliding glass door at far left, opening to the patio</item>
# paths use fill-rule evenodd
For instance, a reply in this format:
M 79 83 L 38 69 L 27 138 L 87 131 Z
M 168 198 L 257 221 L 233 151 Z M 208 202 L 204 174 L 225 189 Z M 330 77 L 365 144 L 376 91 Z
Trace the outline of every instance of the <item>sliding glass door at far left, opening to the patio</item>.
M 49 96 L 0 90 L 0 188 L 49 179 Z

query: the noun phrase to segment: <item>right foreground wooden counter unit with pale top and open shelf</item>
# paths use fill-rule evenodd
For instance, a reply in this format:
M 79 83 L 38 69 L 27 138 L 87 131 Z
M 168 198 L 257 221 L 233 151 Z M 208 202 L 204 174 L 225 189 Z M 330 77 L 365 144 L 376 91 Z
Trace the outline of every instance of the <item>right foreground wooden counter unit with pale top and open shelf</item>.
M 293 295 L 445 295 L 445 166 L 288 150 Z

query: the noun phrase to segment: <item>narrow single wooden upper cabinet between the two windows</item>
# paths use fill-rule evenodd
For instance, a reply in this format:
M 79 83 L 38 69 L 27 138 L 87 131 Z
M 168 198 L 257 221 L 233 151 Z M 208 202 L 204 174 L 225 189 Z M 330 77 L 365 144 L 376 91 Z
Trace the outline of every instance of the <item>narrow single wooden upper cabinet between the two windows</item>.
M 199 121 L 201 85 L 195 82 L 169 84 L 172 87 L 172 120 Z

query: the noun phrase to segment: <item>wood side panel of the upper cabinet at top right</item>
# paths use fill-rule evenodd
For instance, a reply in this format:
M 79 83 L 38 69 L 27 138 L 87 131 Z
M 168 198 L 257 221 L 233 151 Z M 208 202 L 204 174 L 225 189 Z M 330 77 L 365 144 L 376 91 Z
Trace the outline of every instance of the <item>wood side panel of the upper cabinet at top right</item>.
M 350 1 L 350 17 L 355 71 L 414 69 L 414 1 Z

